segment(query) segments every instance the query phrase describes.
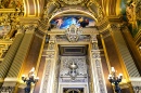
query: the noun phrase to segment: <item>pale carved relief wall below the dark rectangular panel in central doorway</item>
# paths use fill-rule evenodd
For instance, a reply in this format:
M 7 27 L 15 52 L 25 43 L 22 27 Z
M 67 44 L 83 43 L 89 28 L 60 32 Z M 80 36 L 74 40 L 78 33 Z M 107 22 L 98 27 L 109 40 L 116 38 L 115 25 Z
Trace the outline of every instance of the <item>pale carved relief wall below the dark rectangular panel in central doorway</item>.
M 75 79 L 69 75 L 72 63 L 77 66 Z M 86 56 L 62 56 L 59 77 L 57 93 L 62 93 L 64 88 L 81 88 L 82 93 L 89 93 Z

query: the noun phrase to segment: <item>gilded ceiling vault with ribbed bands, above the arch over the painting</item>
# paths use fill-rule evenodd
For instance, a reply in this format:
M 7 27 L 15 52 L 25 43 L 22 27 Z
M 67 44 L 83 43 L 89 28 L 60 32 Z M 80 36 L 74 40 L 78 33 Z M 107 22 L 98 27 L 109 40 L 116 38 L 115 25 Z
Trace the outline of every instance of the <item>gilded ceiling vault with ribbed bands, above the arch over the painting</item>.
M 121 14 L 121 4 L 124 0 L 23 0 L 25 16 L 42 16 L 43 11 L 48 15 L 62 8 L 81 6 L 88 9 L 95 17 L 99 16 L 99 10 L 104 16 L 119 16 Z

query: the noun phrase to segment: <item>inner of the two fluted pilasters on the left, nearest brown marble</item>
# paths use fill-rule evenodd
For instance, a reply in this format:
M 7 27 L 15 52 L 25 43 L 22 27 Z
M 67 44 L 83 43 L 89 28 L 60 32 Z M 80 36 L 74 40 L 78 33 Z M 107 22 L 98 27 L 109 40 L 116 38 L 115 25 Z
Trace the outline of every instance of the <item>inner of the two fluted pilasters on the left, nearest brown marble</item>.
M 21 67 L 28 54 L 28 51 L 29 51 L 29 48 L 30 48 L 30 44 L 31 44 L 31 41 L 33 41 L 33 37 L 34 37 L 34 34 L 33 32 L 26 32 L 24 35 L 24 38 L 21 42 L 21 45 L 17 50 L 17 53 L 15 55 L 15 58 L 11 65 L 11 68 L 9 70 L 9 74 L 7 76 L 7 78 L 11 77 L 11 78 L 17 78 L 18 77 L 18 74 L 21 71 Z

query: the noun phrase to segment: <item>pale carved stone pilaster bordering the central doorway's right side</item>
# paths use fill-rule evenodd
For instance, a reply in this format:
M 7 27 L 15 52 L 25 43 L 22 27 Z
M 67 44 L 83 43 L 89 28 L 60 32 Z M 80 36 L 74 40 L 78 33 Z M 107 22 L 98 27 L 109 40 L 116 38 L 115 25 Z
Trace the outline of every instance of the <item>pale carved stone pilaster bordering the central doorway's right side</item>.
M 104 81 L 104 74 L 101 64 L 100 50 L 98 48 L 97 35 L 91 36 L 90 43 L 90 92 L 91 93 L 107 93 L 106 85 Z

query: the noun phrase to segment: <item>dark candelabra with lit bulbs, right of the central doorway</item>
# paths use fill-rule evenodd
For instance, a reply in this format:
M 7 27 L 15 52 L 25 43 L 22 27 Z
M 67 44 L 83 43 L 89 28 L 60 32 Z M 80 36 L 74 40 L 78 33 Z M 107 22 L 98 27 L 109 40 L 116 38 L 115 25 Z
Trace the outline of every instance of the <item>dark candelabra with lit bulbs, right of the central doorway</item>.
M 123 74 L 119 74 L 119 76 L 116 75 L 116 71 L 114 67 L 112 67 L 112 72 L 108 75 L 108 81 L 115 85 L 115 92 L 121 93 L 119 82 L 121 82 Z

